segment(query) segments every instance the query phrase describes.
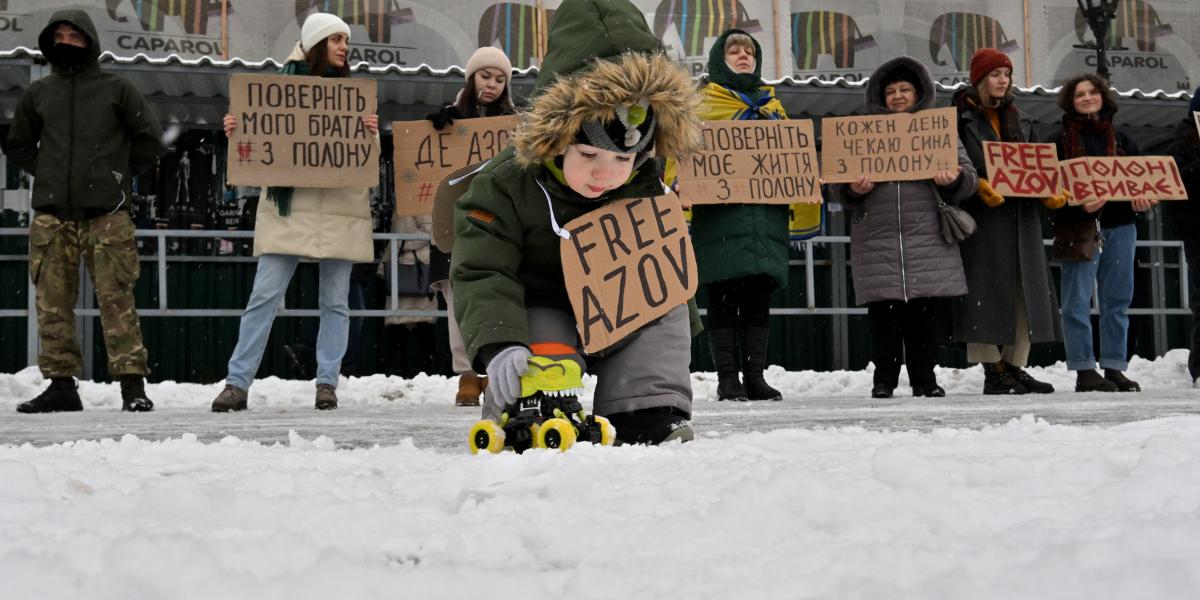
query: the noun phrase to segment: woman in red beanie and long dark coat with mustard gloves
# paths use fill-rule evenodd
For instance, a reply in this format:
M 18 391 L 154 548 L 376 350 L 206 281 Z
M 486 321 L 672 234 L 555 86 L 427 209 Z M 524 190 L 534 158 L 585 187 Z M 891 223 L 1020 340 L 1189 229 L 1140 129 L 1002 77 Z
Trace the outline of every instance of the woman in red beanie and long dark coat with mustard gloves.
M 1038 200 L 997 194 L 988 176 L 984 142 L 1037 142 L 1033 121 L 1013 103 L 1013 61 L 984 48 L 971 58 L 971 83 L 954 95 L 959 137 L 979 174 L 978 193 L 962 202 L 979 228 L 959 246 L 967 295 L 954 311 L 954 340 L 967 360 L 984 365 L 984 394 L 1049 394 L 1026 373 L 1031 343 L 1062 340 L 1058 302 L 1042 246 Z M 1049 209 L 1066 197 L 1040 200 Z

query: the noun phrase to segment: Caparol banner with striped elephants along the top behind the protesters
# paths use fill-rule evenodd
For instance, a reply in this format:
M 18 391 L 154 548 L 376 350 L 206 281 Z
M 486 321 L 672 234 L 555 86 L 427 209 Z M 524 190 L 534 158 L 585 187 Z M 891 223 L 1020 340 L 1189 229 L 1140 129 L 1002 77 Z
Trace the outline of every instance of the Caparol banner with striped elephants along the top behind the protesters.
M 667 50 L 696 74 L 728 28 L 763 47 L 767 78 L 860 79 L 907 54 L 936 78 L 967 78 L 983 47 L 1009 54 L 1019 84 L 1056 85 L 1096 68 L 1096 41 L 1074 0 L 634 0 Z M 119 55 L 275 58 L 312 11 L 350 24 L 352 60 L 372 66 L 462 65 L 479 46 L 517 68 L 540 64 L 560 0 L 0 0 L 0 48 L 36 46 L 58 8 L 83 8 Z M 222 26 L 221 10 L 227 22 Z M 1026 42 L 1027 41 L 1027 42 Z M 778 46 L 776 46 L 778 44 Z M 228 46 L 228 47 L 227 47 Z M 1028 46 L 1028 48 L 1026 48 Z M 1108 41 L 1120 89 L 1193 89 L 1200 82 L 1200 2 L 1121 0 Z

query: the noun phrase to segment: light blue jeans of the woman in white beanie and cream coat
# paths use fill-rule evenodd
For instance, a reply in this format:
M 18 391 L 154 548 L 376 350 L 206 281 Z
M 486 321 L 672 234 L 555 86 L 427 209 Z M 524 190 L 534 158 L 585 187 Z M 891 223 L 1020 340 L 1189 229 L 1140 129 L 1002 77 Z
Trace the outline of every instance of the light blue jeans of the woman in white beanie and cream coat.
M 271 335 L 275 313 L 283 304 L 283 294 L 295 272 L 300 257 L 289 254 L 263 254 L 254 272 L 254 289 L 250 293 L 246 311 L 241 313 L 238 330 L 238 347 L 229 356 L 229 374 L 226 383 L 250 390 L 258 365 L 266 350 L 266 338 Z M 317 383 L 337 385 L 342 368 L 342 355 L 349 335 L 350 314 L 347 294 L 350 287 L 353 263 L 338 258 L 320 260 L 320 329 L 317 334 Z

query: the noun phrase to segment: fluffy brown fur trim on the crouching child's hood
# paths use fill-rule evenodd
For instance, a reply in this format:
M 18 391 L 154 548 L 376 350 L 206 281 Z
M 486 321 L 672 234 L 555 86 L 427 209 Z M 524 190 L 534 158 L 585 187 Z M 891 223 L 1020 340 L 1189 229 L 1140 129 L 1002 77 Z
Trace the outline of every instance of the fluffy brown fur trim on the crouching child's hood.
M 560 74 L 533 100 L 522 115 L 514 145 L 523 167 L 540 164 L 566 151 L 589 120 L 605 125 L 618 104 L 646 98 L 654 110 L 654 154 L 683 160 L 702 146 L 701 96 L 682 67 L 661 53 L 626 52 L 593 60 Z

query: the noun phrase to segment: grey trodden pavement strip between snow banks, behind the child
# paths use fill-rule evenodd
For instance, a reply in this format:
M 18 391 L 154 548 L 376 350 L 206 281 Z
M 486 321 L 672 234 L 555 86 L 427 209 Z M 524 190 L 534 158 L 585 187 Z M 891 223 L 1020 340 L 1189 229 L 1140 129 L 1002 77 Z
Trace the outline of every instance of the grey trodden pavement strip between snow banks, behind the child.
M 311 384 L 308 384 L 311 385 Z M 353 385 L 350 383 L 349 385 Z M 348 386 L 348 385 L 343 385 Z M 449 388 L 448 388 L 449 389 Z M 305 385 L 305 392 L 307 385 Z M 154 396 L 154 386 L 150 386 Z M 211 402 L 216 388 L 205 394 Z M 17 415 L 0 408 L 0 444 L 46 445 L 79 439 L 145 440 L 194 434 L 200 442 L 227 436 L 264 444 L 287 443 L 294 431 L 304 437 L 326 436 L 338 448 L 395 445 L 410 440 L 418 448 L 467 451 L 467 431 L 479 419 L 478 408 L 439 403 L 358 404 L 343 401 L 332 412 L 312 409 L 312 400 L 296 394 L 299 406 L 254 406 L 236 414 L 214 414 L 208 407 L 178 408 L 160 402 L 149 414 L 128 414 L 119 404 L 83 413 Z M 344 396 L 344 394 L 343 394 Z M 452 398 L 452 390 L 442 398 Z M 1200 391 L 1158 390 L 1144 394 L 1050 394 L 1042 396 L 950 395 L 944 398 L 871 400 L 857 396 L 786 398 L 782 402 L 728 403 L 700 400 L 694 407 L 697 434 L 720 438 L 732 433 L 785 428 L 862 427 L 872 431 L 931 431 L 942 427 L 980 428 L 1032 415 L 1054 425 L 1110 426 L 1162 416 L 1200 415 Z M 11 414 L 10 414 L 11 413 Z

